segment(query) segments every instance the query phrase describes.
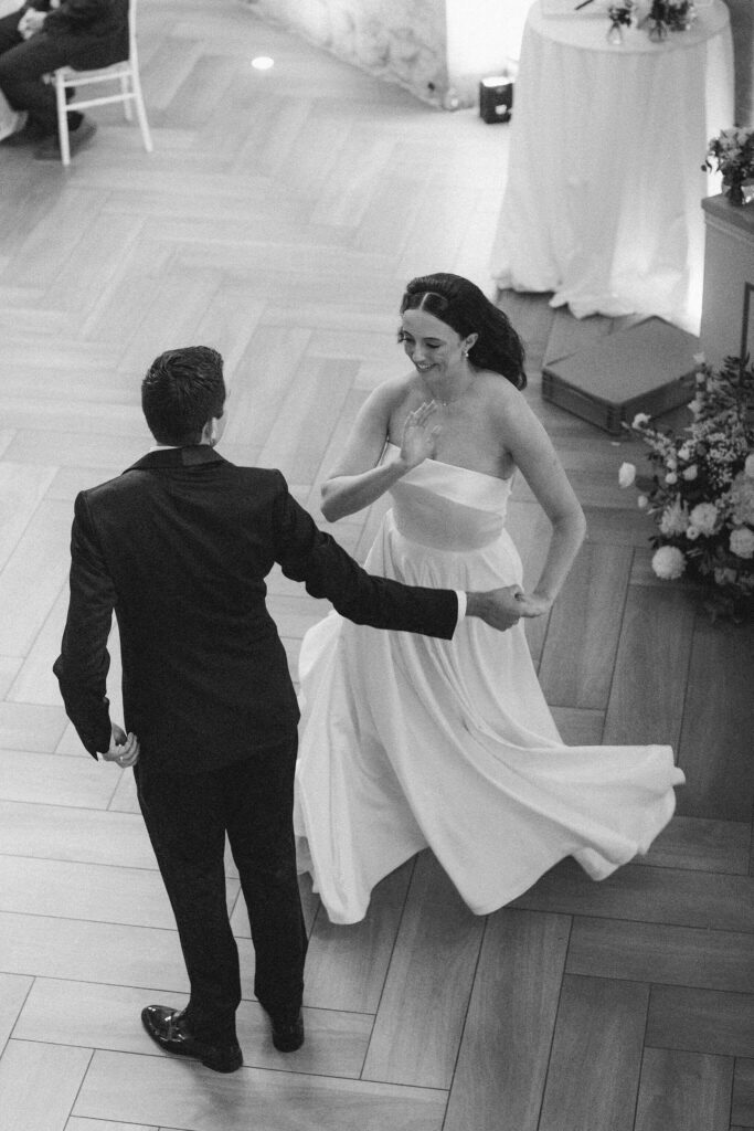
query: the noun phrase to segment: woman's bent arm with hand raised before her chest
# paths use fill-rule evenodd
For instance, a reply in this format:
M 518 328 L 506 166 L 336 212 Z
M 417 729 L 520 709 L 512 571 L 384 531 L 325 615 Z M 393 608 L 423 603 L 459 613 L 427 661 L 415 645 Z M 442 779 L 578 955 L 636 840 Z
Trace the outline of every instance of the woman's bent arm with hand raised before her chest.
M 390 381 L 365 400 L 346 450 L 322 484 L 322 513 L 328 521 L 335 523 L 369 507 L 432 454 L 437 431 L 432 423 L 434 405 L 422 405 L 407 416 L 398 457 L 379 464 L 390 415 L 405 392 L 405 381 Z

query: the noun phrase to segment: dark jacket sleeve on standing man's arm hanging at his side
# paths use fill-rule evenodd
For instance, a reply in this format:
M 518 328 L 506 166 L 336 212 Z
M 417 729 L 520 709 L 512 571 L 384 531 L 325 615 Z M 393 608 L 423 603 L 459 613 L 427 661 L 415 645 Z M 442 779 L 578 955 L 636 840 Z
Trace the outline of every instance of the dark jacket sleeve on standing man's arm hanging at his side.
M 70 603 L 60 656 L 53 672 L 66 714 L 96 758 L 110 746 L 107 637 L 115 590 L 96 537 L 84 494 L 75 503 L 71 529 Z

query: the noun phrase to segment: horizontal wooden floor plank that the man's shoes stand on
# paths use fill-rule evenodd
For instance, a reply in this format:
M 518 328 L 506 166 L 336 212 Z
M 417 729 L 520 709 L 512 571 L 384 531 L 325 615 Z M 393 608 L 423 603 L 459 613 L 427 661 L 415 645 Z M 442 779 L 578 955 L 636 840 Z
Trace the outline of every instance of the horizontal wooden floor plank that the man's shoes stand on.
M 166 1056 L 140 1021 L 141 1010 L 153 996 L 159 1001 L 161 991 L 36 978 L 14 1037 Z M 172 992 L 166 996 L 175 1009 L 183 1009 L 189 1001 L 188 994 Z M 372 1020 L 369 1013 L 306 1009 L 306 1041 L 295 1054 L 284 1054 L 272 1046 L 269 1018 L 261 1005 L 243 1001 L 236 1017 L 239 1043 L 248 1067 L 354 1080 L 364 1063 Z

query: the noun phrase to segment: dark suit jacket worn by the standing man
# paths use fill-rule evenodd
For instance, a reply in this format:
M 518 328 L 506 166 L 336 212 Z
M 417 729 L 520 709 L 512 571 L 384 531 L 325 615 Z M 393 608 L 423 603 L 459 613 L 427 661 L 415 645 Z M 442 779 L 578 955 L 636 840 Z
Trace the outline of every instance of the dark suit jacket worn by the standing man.
M 216 769 L 291 737 L 298 709 L 265 603 L 275 562 L 358 623 L 453 634 L 453 593 L 371 577 L 318 529 L 280 472 L 236 467 L 207 446 L 158 449 L 76 499 L 54 672 L 92 754 L 110 745 L 113 610 L 142 772 Z

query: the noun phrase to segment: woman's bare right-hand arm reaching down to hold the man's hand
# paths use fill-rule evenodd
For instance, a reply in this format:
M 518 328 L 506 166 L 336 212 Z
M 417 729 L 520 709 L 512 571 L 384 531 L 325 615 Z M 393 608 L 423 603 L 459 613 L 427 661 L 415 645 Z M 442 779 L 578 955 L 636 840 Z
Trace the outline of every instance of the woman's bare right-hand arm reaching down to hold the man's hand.
M 520 599 L 546 612 L 560 593 L 587 533 L 581 504 L 544 426 L 515 390 L 505 397 L 503 442 L 549 519 L 553 533 L 531 594 Z

